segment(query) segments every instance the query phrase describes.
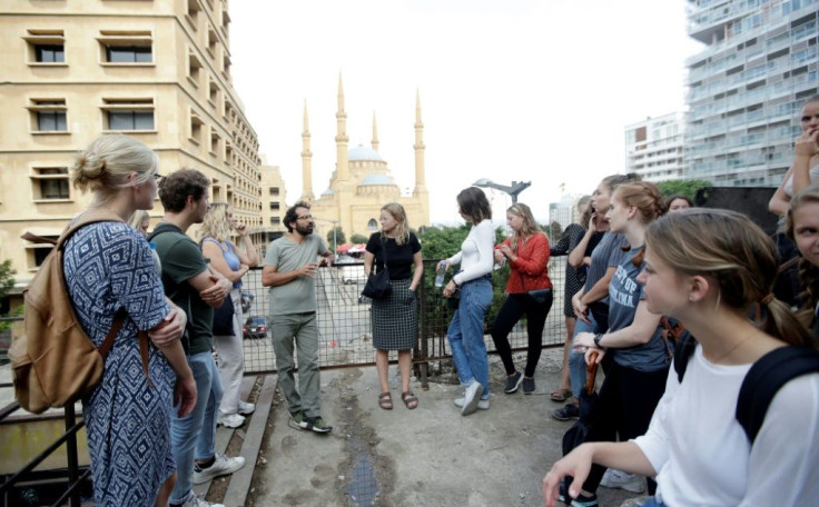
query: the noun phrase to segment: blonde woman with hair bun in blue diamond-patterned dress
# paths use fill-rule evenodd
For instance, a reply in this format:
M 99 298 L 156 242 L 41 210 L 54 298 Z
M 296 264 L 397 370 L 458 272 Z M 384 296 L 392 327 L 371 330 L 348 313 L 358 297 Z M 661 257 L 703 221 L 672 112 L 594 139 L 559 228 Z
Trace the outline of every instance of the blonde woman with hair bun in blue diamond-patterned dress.
M 157 166 L 147 146 L 108 135 L 78 157 L 71 181 L 93 192 L 92 208 L 107 208 L 127 221 L 135 211 L 154 207 Z M 127 223 L 79 229 L 66 242 L 63 271 L 77 317 L 95 345 L 102 342 L 115 315 L 127 312 L 106 356 L 102 380 L 82 404 L 95 504 L 168 505 L 176 484 L 172 402 L 181 400 L 181 416 L 196 404 L 194 374 L 179 341 L 185 312 L 165 298 L 148 242 Z M 142 375 L 139 331 L 148 331 L 152 344 L 149 379 Z

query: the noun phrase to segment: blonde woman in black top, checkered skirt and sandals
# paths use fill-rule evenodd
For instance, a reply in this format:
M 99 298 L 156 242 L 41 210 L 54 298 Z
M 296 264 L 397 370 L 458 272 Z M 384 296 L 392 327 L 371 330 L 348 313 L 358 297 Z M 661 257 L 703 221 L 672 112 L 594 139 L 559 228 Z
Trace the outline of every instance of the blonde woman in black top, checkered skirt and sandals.
M 367 277 L 373 274 L 373 261 L 375 261 L 376 270 L 381 271 L 385 269 L 386 258 L 389 285 L 393 287 L 389 296 L 373 300 L 371 311 L 375 365 L 381 384 L 378 406 L 385 410 L 393 408 L 387 372 L 389 350 L 397 350 L 401 399 L 406 408 L 413 409 L 418 406 L 418 398 L 410 389 L 410 370 L 413 360 L 412 349 L 418 339 L 418 304 L 415 290 L 424 272 L 421 243 L 418 238 L 410 232 L 406 211 L 399 203 L 384 205 L 381 209 L 379 221 L 381 232 L 375 232 L 369 237 L 364 254 L 364 274 Z

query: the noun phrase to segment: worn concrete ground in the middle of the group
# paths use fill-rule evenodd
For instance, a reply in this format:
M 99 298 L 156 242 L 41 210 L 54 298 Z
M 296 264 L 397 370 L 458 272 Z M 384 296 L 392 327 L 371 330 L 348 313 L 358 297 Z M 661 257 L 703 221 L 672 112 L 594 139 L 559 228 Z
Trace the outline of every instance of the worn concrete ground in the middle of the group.
M 395 408 L 378 408 L 374 367 L 322 372 L 324 419 L 333 433 L 296 429 L 280 392 L 273 398 L 248 506 L 542 506 L 541 480 L 561 457 L 571 422 L 550 415 L 561 350 L 544 350 L 537 391 L 503 392 L 505 374 L 491 356 L 491 408 L 462 417 L 462 389 L 430 382 L 415 410 L 401 401 L 397 367 L 389 381 Z M 524 355 L 515 359 L 517 365 Z M 637 497 L 600 488 L 601 506 Z M 225 498 L 230 505 L 230 498 Z M 629 503 L 631 504 L 631 503 Z

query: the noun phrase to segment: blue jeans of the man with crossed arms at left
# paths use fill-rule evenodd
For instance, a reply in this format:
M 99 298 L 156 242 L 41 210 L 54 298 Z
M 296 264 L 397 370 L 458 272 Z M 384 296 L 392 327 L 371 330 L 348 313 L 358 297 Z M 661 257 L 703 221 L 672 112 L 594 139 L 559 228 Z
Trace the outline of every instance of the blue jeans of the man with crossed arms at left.
M 181 504 L 193 495 L 194 459 L 207 460 L 216 451 L 216 415 L 221 402 L 221 381 L 213 354 L 188 356 L 196 381 L 196 407 L 179 418 L 177 408 L 170 419 L 170 445 L 176 460 L 177 481 L 170 494 L 172 504 Z

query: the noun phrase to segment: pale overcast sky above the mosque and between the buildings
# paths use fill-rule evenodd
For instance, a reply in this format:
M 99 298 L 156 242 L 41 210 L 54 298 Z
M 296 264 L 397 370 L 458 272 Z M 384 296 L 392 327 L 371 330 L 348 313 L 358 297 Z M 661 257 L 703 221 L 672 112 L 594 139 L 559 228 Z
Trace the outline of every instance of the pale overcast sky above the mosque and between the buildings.
M 343 76 L 349 147 L 379 152 L 402 189 L 414 181 L 421 93 L 433 223 L 460 221 L 455 196 L 478 178 L 531 181 L 549 202 L 589 193 L 624 169 L 626 125 L 683 109 L 683 0 L 231 0 L 231 73 L 260 153 L 302 193 L 309 112 L 314 192 L 335 169 Z M 509 197 L 487 192 L 501 222 Z

